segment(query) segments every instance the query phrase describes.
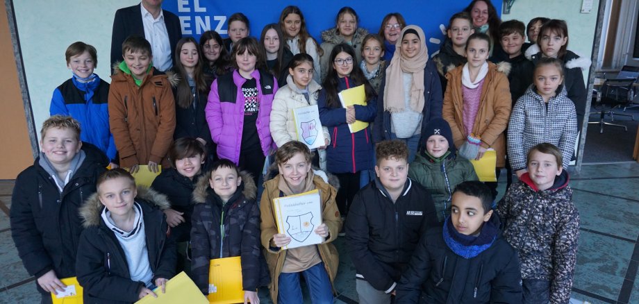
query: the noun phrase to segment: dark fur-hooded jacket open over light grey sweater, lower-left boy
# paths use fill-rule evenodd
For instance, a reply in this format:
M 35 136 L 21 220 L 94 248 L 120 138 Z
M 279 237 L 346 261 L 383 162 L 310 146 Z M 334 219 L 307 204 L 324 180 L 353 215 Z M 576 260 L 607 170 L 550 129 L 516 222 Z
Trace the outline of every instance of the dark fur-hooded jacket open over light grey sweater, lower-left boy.
M 166 196 L 151 189 L 138 188 L 135 202 L 142 208 L 152 282 L 175 275 L 177 253 L 164 213 L 169 208 Z M 160 210 L 158 210 L 158 208 Z M 124 249 L 114 232 L 106 226 L 101 213 L 104 206 L 97 193 L 80 209 L 85 230 L 80 237 L 76 270 L 84 287 L 84 303 L 133 303 L 140 300 L 143 282 L 133 282 Z

